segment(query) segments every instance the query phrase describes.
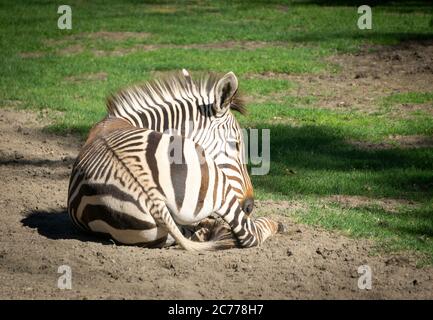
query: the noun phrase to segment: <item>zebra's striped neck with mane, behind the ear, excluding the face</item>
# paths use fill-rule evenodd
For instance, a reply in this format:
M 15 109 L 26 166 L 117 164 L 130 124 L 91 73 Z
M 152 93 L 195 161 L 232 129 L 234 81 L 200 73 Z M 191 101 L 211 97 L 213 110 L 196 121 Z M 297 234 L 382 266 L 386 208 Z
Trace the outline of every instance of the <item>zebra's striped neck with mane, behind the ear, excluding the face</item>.
M 212 131 L 229 112 L 215 116 L 214 90 L 206 81 L 199 84 L 157 82 L 131 87 L 108 100 L 108 112 L 138 128 L 189 138 L 206 150 L 208 140 L 215 138 Z

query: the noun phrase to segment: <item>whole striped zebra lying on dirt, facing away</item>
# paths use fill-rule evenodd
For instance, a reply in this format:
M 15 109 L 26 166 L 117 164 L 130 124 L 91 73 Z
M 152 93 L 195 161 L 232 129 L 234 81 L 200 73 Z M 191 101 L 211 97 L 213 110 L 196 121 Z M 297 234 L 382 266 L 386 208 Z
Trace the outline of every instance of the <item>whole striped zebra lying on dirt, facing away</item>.
M 191 251 L 257 246 L 281 231 L 269 218 L 250 217 L 245 146 L 230 111 L 243 110 L 237 91 L 232 72 L 192 81 L 183 71 L 111 96 L 107 117 L 91 129 L 72 168 L 73 222 L 123 244 L 177 243 Z M 172 159 L 173 145 L 180 146 L 180 163 Z M 192 241 L 179 228 L 211 214 L 228 224 L 236 242 Z

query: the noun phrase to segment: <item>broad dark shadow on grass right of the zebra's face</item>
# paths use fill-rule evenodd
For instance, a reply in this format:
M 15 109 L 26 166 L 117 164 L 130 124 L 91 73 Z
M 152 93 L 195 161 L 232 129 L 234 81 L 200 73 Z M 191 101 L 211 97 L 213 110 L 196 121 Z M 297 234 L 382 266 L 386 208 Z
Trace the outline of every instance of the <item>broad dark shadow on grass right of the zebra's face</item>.
M 326 126 L 263 128 L 271 132 L 271 167 L 268 175 L 253 176 L 256 189 L 282 196 L 431 199 L 432 149 L 359 149 Z

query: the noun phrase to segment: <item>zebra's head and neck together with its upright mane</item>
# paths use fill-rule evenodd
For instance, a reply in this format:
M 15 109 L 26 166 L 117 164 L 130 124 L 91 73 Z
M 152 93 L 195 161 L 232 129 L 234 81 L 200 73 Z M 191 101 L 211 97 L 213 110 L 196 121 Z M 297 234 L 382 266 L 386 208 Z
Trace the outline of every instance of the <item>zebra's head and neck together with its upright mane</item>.
M 199 75 L 194 82 L 183 69 L 172 77 L 112 95 L 107 101 L 108 116 L 125 119 L 139 128 L 172 131 L 202 146 L 226 172 L 242 208 L 250 214 L 254 208 L 254 191 L 245 163 L 243 136 L 236 118 L 229 112 L 231 109 L 245 114 L 246 110 L 238 94 L 236 76 L 230 72 L 221 79 L 227 82 L 227 88 L 217 88 L 218 80 L 217 74 L 208 73 Z M 223 102 L 214 103 L 216 94 Z M 231 144 L 239 149 L 239 157 L 225 152 Z

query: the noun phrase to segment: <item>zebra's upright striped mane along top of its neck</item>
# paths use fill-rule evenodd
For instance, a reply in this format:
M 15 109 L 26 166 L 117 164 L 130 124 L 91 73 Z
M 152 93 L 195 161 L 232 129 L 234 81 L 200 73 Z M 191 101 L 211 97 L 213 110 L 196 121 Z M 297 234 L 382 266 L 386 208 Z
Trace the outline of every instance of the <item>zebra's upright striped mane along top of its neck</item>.
M 205 104 L 214 101 L 214 88 L 221 75 L 216 73 L 201 73 L 194 78 L 184 72 L 174 72 L 147 81 L 140 85 L 134 85 L 121 89 L 107 99 L 109 115 L 114 115 L 122 110 L 136 112 L 147 109 L 157 104 L 166 105 L 164 102 L 184 100 L 185 97 L 200 97 Z M 243 99 L 237 91 L 230 101 L 230 109 L 241 114 L 246 113 Z

